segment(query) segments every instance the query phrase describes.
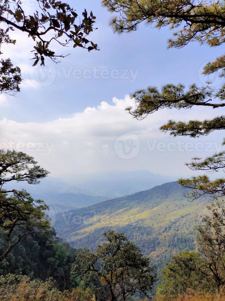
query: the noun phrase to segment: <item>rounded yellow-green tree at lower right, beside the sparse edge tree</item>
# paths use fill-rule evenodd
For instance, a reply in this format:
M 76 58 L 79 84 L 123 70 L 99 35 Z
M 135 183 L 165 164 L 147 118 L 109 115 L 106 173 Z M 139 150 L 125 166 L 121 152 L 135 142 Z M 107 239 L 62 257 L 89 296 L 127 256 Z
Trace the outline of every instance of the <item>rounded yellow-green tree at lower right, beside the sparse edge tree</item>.
M 180 252 L 165 264 L 162 282 L 157 287 L 157 296 L 167 298 L 184 295 L 188 290 L 212 291 L 213 282 L 207 275 L 204 261 L 195 252 Z M 204 267 L 204 269 L 203 269 Z

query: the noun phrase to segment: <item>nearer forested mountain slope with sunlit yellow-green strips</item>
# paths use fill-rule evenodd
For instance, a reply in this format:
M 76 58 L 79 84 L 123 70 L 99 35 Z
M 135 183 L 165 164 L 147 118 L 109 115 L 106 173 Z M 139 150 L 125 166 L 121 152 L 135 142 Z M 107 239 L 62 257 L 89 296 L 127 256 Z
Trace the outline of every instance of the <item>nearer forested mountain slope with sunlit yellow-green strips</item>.
M 184 189 L 171 182 L 60 213 L 54 227 L 74 247 L 93 249 L 103 241 L 103 231 L 113 228 L 132 239 L 161 268 L 171 254 L 195 247 L 194 225 L 208 201 L 188 202 Z

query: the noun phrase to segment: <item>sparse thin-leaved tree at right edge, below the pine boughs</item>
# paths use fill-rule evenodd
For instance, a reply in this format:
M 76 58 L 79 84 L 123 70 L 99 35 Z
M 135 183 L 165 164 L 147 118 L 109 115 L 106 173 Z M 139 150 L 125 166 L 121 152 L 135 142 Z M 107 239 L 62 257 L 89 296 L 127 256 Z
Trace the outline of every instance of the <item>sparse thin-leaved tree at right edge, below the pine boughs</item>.
M 217 291 L 225 286 L 225 205 L 214 198 L 207 206 L 208 214 L 197 227 L 197 243 L 204 266 L 215 281 Z

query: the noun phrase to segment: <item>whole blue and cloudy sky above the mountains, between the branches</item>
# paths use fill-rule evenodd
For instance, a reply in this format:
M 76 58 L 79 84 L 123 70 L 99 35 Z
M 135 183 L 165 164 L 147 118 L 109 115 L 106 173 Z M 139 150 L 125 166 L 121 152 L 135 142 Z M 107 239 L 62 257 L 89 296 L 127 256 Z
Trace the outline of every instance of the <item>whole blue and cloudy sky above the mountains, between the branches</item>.
M 28 13 L 35 11 L 36 1 L 26 0 L 25 7 Z M 118 35 L 108 26 L 111 14 L 101 1 L 80 1 L 74 8 L 78 14 L 84 8 L 93 11 L 98 29 L 89 38 L 100 51 L 55 45 L 58 53 L 70 55 L 58 65 L 46 60 L 45 67 L 32 67 L 34 44 L 26 33 L 14 31 L 16 45 L 2 47 L 3 56 L 21 67 L 23 82 L 16 97 L 0 96 L 0 147 L 24 151 L 52 177 L 65 179 L 111 170 L 180 177 L 191 174 L 185 162 L 220 150 L 222 133 L 173 138 L 159 127 L 168 119 L 212 118 L 222 109 L 165 109 L 137 121 L 125 108 L 134 105 L 129 94 L 148 85 L 203 85 L 210 80 L 219 87 L 221 79 L 201 72 L 221 55 L 221 47 L 193 42 L 167 49 L 168 28 L 142 24 L 136 32 Z

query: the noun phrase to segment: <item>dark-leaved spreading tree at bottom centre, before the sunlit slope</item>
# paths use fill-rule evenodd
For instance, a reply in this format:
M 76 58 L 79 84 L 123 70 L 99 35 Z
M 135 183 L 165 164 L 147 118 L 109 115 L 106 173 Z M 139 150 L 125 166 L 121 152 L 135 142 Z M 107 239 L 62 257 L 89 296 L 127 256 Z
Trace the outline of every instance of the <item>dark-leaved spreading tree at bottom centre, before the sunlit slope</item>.
M 150 259 L 123 233 L 108 230 L 103 235 L 107 241 L 97 247 L 96 253 L 84 249 L 77 254 L 72 275 L 81 277 L 87 285 L 100 285 L 106 292 L 104 300 L 126 300 L 135 293 L 149 296 L 156 281 Z

